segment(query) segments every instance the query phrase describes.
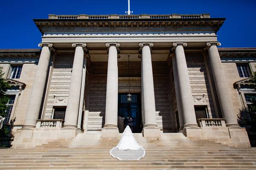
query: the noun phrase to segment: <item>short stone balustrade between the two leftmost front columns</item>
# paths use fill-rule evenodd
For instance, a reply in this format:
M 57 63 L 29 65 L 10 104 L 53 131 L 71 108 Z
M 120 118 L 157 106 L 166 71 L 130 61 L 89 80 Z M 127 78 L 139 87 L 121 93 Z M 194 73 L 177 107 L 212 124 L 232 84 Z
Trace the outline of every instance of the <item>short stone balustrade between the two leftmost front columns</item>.
M 37 120 L 36 128 L 62 128 L 64 124 L 63 119 L 45 119 L 45 120 Z

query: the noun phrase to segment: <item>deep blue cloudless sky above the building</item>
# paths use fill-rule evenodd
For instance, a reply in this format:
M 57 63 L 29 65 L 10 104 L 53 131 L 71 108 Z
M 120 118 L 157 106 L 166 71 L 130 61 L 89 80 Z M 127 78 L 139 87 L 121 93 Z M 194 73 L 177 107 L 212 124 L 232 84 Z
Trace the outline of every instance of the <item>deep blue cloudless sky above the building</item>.
M 0 48 L 38 48 L 32 19 L 48 14 L 124 14 L 127 0 L 2 0 Z M 256 0 L 131 0 L 134 14 L 202 14 L 224 17 L 221 47 L 256 47 Z

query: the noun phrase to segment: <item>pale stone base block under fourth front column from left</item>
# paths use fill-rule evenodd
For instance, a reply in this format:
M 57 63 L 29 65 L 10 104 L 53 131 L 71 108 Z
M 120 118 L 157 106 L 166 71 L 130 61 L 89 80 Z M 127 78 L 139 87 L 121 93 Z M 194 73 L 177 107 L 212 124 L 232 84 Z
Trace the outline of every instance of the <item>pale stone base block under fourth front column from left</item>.
M 161 131 L 159 127 L 143 127 L 142 130 L 143 137 L 149 139 L 149 140 L 158 140 L 161 137 Z

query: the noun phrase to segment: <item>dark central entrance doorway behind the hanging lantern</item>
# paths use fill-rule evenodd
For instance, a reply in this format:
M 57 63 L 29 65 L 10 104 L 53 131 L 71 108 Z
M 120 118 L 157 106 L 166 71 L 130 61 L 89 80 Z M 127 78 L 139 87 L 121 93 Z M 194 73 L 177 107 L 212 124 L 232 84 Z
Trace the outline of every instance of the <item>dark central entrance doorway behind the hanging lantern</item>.
M 131 102 L 127 102 L 128 93 L 118 94 L 118 128 L 122 133 L 124 130 L 123 120 L 125 117 L 133 119 L 133 133 L 141 133 L 141 102 L 140 93 L 131 93 Z

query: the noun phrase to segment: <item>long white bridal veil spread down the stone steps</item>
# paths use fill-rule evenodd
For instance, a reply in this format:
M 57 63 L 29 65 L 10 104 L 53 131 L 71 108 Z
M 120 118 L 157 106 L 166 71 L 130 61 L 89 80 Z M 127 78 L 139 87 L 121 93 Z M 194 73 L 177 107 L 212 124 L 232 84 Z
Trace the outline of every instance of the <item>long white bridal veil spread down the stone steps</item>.
M 116 147 L 110 150 L 111 156 L 119 160 L 138 160 L 145 156 L 145 150 L 138 144 L 129 126 Z

